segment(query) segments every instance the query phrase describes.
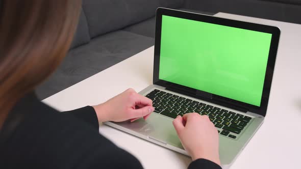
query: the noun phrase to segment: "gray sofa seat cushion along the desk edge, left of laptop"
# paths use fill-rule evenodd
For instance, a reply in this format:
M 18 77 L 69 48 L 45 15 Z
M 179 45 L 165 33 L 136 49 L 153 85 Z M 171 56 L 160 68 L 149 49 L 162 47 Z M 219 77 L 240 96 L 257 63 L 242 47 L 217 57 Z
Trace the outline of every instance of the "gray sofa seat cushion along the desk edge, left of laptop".
M 153 38 L 126 31 L 91 39 L 90 43 L 71 49 L 36 93 L 41 100 L 45 99 L 153 45 Z

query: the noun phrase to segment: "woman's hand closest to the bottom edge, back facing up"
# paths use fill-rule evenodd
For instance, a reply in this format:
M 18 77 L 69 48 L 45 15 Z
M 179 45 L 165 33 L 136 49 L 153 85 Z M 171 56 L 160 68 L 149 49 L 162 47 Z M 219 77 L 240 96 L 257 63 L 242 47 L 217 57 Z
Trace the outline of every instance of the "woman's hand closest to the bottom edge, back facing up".
M 192 160 L 204 158 L 220 165 L 218 132 L 208 116 L 197 113 L 178 116 L 173 120 L 181 143 Z

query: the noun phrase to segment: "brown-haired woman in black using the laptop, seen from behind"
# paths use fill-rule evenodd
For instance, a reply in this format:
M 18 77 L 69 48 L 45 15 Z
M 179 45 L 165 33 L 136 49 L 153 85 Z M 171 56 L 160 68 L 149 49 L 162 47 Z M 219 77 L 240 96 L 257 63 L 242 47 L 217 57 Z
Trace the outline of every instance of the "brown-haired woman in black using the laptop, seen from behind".
M 34 94 L 65 57 L 80 7 L 78 0 L 0 3 L 0 168 L 142 168 L 100 135 L 98 124 L 146 120 L 151 100 L 129 89 L 61 113 Z M 189 168 L 220 168 L 218 134 L 207 116 L 186 114 L 173 125 L 192 157 Z

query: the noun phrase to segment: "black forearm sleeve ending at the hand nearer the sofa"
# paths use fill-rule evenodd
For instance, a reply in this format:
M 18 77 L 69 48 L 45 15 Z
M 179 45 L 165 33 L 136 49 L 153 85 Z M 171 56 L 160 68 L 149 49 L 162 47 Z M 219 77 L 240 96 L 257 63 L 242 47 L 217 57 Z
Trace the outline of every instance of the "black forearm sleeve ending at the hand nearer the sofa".
M 63 113 L 72 115 L 78 118 L 79 120 L 88 123 L 89 125 L 91 125 L 93 128 L 97 130 L 99 128 L 96 112 L 92 106 L 86 106 L 70 111 L 64 111 Z

